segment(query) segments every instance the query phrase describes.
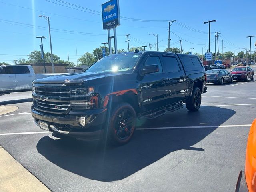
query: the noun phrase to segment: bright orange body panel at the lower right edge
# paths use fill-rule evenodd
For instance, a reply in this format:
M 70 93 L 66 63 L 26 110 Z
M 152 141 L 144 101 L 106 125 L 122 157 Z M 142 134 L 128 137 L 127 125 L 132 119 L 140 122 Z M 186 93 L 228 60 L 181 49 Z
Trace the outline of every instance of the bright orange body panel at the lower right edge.
M 245 157 L 245 179 L 249 192 L 256 192 L 256 119 L 248 135 Z

